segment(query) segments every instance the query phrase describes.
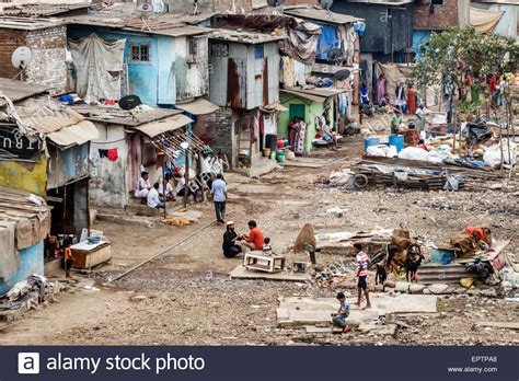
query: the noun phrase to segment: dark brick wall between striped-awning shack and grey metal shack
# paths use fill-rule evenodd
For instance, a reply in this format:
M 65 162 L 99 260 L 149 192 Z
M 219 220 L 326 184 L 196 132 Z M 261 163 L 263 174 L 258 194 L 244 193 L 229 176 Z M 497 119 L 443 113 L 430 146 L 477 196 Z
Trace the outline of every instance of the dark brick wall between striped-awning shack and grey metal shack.
M 229 161 L 231 168 L 234 140 L 233 120 L 235 115 L 230 107 L 220 107 L 216 113 L 197 116 L 193 125 L 193 132 L 204 142 L 212 148 L 215 152 L 221 151 Z

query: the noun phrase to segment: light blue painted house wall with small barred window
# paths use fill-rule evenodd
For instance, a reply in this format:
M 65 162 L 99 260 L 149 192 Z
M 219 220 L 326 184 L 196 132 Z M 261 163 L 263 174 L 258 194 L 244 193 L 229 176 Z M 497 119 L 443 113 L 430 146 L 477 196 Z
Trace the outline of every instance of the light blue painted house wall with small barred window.
M 152 106 L 175 104 L 175 80 L 172 72 L 175 60 L 173 37 L 131 34 L 97 26 L 69 25 L 68 38 L 83 38 L 94 32 L 100 37 L 108 41 L 127 39 L 125 62 L 128 64 L 129 94 L 138 95 L 143 103 Z M 130 46 L 132 44 L 148 44 L 150 46 L 149 62 L 131 61 Z

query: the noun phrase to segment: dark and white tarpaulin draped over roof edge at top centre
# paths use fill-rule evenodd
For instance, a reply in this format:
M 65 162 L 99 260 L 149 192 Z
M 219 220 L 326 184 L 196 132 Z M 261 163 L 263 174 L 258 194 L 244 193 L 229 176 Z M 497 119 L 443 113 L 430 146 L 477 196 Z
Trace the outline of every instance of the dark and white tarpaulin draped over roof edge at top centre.
M 221 14 L 214 19 L 214 27 L 241 28 L 258 33 L 280 30 L 287 38 L 279 42 L 279 49 L 300 62 L 315 61 L 321 26 L 309 21 L 282 14 Z

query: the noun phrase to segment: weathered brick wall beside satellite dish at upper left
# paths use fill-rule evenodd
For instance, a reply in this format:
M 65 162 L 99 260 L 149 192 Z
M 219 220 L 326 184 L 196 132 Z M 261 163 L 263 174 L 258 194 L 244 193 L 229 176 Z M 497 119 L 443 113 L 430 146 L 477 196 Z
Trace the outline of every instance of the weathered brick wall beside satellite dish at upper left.
M 50 85 L 56 89 L 56 93 L 66 91 L 66 26 L 28 32 L 26 44 L 33 54 L 33 60 L 26 69 L 27 82 Z

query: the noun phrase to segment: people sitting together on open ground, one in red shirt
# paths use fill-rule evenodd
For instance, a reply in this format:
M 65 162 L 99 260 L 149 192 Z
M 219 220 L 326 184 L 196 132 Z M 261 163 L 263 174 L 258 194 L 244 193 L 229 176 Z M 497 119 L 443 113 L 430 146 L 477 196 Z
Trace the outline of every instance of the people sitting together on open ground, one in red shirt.
M 223 233 L 223 243 L 221 245 L 223 255 L 227 258 L 232 258 L 244 253 L 245 251 L 263 251 L 265 255 L 272 255 L 273 249 L 270 246 L 270 239 L 264 236 L 262 230 L 257 227 L 256 221 L 251 220 L 247 223 L 249 235 L 239 235 L 234 229 L 234 222 L 227 222 L 227 229 Z

